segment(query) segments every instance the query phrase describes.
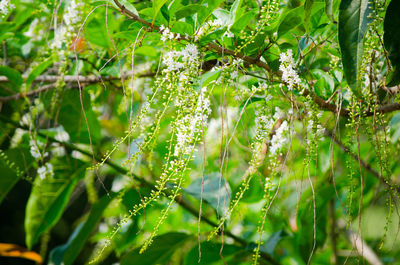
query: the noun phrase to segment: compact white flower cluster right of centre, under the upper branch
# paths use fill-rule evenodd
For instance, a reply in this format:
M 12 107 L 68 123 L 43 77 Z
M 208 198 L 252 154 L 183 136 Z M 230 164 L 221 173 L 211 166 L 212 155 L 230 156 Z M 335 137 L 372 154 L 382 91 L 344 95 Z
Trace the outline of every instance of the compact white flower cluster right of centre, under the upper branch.
M 295 70 L 292 50 L 281 53 L 279 62 L 279 70 L 282 71 L 282 80 L 287 84 L 289 90 L 293 90 L 295 86 L 300 85 L 300 78 Z

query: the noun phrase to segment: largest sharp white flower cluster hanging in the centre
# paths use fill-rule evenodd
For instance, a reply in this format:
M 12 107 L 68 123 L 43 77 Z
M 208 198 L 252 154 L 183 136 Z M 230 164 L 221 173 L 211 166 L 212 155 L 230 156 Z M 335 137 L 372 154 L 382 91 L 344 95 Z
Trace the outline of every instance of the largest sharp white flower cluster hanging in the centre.
M 193 150 L 192 143 L 196 135 L 200 132 L 202 123 L 207 123 L 207 118 L 211 113 L 210 100 L 205 95 L 205 88 L 199 94 L 196 110 L 192 115 L 186 115 L 176 122 L 177 143 L 174 156 L 190 155 Z

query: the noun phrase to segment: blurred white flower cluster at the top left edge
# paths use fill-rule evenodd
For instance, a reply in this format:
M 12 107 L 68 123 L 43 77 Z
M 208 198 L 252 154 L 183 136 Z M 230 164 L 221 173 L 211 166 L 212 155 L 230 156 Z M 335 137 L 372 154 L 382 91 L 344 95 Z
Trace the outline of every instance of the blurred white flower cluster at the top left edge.
M 54 40 L 51 44 L 52 48 L 60 50 L 62 44 L 70 41 L 72 33 L 75 31 L 75 26 L 81 20 L 79 8 L 80 3 L 71 0 L 63 15 L 64 24 L 56 27 L 54 31 Z

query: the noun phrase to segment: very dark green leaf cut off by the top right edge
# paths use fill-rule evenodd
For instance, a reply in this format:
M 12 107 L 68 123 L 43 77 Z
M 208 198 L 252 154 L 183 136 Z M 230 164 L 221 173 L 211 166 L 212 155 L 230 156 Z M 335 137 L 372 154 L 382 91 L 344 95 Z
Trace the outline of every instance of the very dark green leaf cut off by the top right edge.
M 392 0 L 386 10 L 383 24 L 383 41 L 389 54 L 389 60 L 393 66 L 386 83 L 387 86 L 400 84 L 400 2 Z

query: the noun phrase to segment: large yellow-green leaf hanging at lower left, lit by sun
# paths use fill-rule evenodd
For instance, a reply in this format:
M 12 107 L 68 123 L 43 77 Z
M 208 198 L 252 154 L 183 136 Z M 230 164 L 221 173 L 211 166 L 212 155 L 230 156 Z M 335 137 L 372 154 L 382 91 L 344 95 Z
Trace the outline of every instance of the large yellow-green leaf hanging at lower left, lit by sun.
M 25 212 L 26 245 L 29 249 L 39 237 L 51 229 L 60 219 L 78 180 L 84 176 L 85 167 L 78 160 L 79 170 L 73 171 L 68 164 L 55 165 L 54 176 L 37 177 L 29 196 Z

